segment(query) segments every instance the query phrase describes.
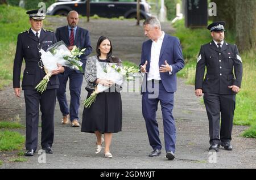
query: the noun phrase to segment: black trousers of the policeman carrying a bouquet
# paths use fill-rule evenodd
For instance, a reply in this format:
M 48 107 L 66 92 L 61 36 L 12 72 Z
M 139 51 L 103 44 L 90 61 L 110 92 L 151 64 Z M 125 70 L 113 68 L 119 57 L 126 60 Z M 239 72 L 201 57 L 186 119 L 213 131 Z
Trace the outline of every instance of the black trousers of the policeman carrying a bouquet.
M 42 94 L 36 90 L 24 90 L 26 103 L 26 149 L 38 147 L 39 105 L 42 113 L 42 148 L 52 147 L 54 136 L 54 110 L 56 89 L 47 89 Z

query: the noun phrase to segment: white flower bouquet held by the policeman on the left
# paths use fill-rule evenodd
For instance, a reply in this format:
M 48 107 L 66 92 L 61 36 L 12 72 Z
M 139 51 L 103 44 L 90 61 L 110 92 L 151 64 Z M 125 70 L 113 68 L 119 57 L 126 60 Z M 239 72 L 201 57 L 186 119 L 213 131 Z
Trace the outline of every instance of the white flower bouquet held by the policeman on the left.
M 46 75 L 44 76 L 43 80 L 36 85 L 36 90 L 40 93 L 46 91 L 49 78 L 52 76 L 51 72 L 57 68 L 57 64 L 69 67 L 73 70 L 80 70 L 82 72 L 82 62 L 80 61 L 79 57 L 84 51 L 85 49 L 80 50 L 76 46 L 69 51 L 63 41 L 53 44 L 46 50 L 46 52 L 41 49 L 41 59 Z

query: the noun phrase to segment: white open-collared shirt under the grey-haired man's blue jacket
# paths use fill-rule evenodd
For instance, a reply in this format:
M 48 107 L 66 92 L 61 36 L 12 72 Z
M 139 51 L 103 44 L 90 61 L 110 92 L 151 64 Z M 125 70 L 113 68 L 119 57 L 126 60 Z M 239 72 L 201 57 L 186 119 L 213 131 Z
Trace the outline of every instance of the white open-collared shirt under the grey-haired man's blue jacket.
M 158 38 L 157 42 L 152 40 L 150 71 L 148 72 L 147 80 L 152 80 L 152 79 L 161 80 L 158 63 L 159 63 L 160 51 L 163 44 L 164 34 L 165 33 L 162 31 L 162 36 Z

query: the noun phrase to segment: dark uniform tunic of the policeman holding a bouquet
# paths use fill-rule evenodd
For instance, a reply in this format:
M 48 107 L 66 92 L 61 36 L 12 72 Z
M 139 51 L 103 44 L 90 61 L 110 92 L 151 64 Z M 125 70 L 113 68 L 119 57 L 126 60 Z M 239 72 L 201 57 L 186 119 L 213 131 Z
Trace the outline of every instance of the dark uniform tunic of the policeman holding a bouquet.
M 39 42 L 35 34 L 28 29 L 18 35 L 16 46 L 16 54 L 13 67 L 13 87 L 20 87 L 20 71 L 23 58 L 26 62 L 26 68 L 23 73 L 22 89 L 35 89 L 36 85 L 46 75 L 44 69 L 39 66 L 40 59 L 39 50 L 47 50 L 49 46 L 57 42 L 55 34 L 46 29 L 41 30 Z M 59 79 L 56 75 L 51 76 L 47 89 L 59 88 Z

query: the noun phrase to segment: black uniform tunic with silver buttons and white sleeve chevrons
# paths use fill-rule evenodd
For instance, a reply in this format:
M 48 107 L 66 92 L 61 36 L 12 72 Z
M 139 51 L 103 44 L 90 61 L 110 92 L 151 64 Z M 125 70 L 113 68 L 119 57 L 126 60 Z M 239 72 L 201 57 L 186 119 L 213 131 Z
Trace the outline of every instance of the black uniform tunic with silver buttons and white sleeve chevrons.
M 205 66 L 207 74 L 204 78 Z M 234 74 L 236 79 L 234 78 Z M 242 59 L 236 45 L 224 41 L 219 50 L 214 41 L 202 45 L 196 64 L 195 89 L 221 95 L 233 95 L 230 85 L 241 87 Z

